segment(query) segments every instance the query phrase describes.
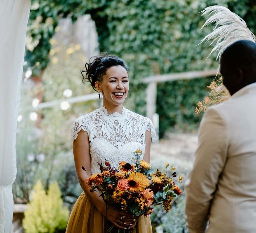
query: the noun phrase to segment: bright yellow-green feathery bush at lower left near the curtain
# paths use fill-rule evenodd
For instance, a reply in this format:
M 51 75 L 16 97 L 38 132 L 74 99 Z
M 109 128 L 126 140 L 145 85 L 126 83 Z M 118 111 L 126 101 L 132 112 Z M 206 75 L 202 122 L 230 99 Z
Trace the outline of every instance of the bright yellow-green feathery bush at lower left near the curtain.
M 53 233 L 66 228 L 69 210 L 63 206 L 57 182 L 51 183 L 46 193 L 42 182 L 38 180 L 31 198 L 22 222 L 26 233 Z

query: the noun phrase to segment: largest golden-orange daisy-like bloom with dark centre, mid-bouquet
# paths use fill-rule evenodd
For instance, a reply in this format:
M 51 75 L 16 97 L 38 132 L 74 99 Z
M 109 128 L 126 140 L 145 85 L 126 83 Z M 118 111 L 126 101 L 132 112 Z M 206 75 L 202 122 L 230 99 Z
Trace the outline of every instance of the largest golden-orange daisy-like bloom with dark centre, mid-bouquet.
M 149 186 L 148 178 L 140 172 L 131 173 L 127 179 L 129 190 L 132 192 L 142 192 L 147 186 Z

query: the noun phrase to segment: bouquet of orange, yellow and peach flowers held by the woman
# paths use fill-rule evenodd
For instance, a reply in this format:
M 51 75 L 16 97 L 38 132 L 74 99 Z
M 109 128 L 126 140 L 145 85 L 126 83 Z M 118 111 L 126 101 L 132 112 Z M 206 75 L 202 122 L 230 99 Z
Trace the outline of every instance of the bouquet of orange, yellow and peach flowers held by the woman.
M 107 204 L 117 206 L 123 211 L 130 211 L 136 216 L 150 215 L 152 205 L 161 205 L 168 212 L 174 197 L 181 194 L 175 181 L 181 182 L 182 176 L 175 172 L 175 167 L 165 172 L 153 171 L 150 164 L 139 160 L 142 151 L 133 152 L 133 163 L 121 161 L 119 167 L 112 167 L 108 160 L 100 164 L 101 173 L 94 174 L 86 183 L 91 192 L 99 191 Z M 171 171 L 171 176 L 167 172 Z M 121 229 L 110 227 L 108 232 L 120 232 Z M 132 232 L 127 230 L 124 232 Z

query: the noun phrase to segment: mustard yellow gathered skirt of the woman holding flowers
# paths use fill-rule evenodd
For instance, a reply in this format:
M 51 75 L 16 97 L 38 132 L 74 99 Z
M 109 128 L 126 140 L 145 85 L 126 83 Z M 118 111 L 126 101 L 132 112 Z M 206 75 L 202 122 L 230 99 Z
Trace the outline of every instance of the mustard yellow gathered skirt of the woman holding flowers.
M 66 233 L 107 233 L 107 224 L 106 218 L 82 192 L 71 211 Z M 138 219 L 134 233 L 152 233 L 149 216 Z

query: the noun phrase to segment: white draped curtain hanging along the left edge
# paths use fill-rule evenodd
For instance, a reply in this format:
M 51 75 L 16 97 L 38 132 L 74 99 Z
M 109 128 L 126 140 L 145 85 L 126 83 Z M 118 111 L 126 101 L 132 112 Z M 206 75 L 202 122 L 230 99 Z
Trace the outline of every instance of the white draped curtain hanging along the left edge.
M 0 0 L 0 233 L 11 232 L 16 127 L 30 0 Z

